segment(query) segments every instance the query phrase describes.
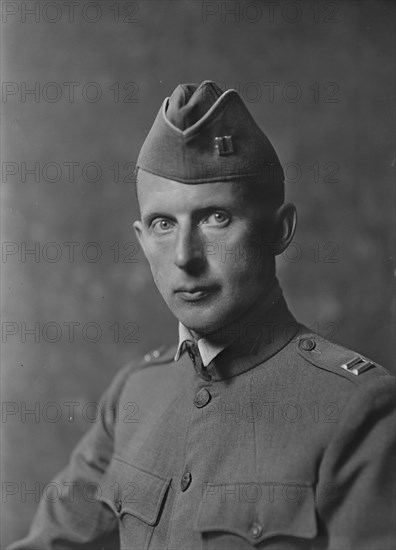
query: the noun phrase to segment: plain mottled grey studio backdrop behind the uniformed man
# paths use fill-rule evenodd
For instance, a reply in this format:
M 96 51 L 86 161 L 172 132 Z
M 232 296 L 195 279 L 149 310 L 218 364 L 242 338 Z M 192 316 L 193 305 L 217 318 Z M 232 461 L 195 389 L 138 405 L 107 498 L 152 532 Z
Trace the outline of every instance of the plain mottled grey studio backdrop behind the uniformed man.
M 393 369 L 393 2 L 79 2 L 74 21 L 27 4 L 25 20 L 2 6 L 1 548 L 87 404 L 176 339 L 132 232 L 132 172 L 181 82 L 239 89 L 288 167 L 299 223 L 278 269 L 296 317 Z

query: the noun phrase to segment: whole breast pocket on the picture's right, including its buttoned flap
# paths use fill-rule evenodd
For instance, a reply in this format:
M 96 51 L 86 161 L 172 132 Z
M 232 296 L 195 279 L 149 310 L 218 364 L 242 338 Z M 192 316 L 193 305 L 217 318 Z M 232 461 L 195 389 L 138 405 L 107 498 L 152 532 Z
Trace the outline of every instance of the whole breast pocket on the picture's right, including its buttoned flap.
M 208 484 L 195 522 L 205 550 L 311 548 L 317 535 L 312 486 L 260 493 L 238 485 Z

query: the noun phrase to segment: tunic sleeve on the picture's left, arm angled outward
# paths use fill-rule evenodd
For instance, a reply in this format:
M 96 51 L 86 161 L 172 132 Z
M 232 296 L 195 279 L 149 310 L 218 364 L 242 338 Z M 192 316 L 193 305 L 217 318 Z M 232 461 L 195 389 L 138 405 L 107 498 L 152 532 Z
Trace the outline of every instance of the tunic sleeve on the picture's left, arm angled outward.
M 101 399 L 100 420 L 77 445 L 68 466 L 49 484 L 54 494 L 46 491 L 27 537 L 9 550 L 119 548 L 116 517 L 98 497 L 113 455 L 117 402 L 129 374 L 130 367 L 126 367 L 115 377 Z

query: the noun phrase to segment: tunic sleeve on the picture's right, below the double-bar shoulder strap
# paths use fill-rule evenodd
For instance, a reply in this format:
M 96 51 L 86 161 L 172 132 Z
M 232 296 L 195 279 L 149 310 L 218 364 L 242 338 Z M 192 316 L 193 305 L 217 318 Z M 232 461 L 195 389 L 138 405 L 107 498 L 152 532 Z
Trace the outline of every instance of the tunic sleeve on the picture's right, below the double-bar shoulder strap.
M 394 378 L 379 376 L 343 410 L 320 467 L 323 548 L 396 548 L 394 395 Z

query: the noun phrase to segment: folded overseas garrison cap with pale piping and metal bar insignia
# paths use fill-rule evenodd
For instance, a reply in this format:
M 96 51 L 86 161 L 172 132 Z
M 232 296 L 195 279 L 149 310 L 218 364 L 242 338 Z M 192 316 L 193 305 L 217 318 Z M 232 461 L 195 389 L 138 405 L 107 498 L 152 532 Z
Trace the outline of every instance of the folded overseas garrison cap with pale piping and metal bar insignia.
M 180 84 L 165 99 L 137 167 L 186 184 L 256 182 L 271 202 L 284 200 L 278 156 L 236 90 L 215 82 Z

